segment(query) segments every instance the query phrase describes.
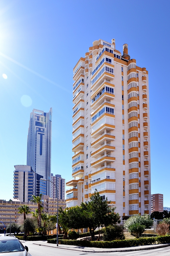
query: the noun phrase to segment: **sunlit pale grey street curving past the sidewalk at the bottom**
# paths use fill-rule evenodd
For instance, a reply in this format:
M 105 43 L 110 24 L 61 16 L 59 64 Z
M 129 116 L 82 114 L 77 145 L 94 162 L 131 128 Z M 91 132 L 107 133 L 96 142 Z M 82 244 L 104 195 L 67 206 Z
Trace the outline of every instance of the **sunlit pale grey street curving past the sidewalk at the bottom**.
M 60 256 L 76 256 L 76 255 L 84 255 L 84 254 L 93 254 L 95 256 L 101 256 L 101 255 L 118 255 L 118 256 L 169 256 L 170 255 L 170 247 L 165 248 L 159 248 L 159 249 L 153 249 L 153 250 L 146 250 L 146 251 L 136 251 L 136 252 L 115 252 L 115 253 L 84 253 L 84 252 L 76 252 L 71 250 L 64 250 L 64 249 L 58 249 L 58 248 L 50 248 L 46 246 L 39 246 L 32 244 L 34 242 L 26 242 L 23 243 L 24 245 L 27 244 L 29 248 L 29 253 L 31 253 L 32 256 L 54 256 L 56 254 Z

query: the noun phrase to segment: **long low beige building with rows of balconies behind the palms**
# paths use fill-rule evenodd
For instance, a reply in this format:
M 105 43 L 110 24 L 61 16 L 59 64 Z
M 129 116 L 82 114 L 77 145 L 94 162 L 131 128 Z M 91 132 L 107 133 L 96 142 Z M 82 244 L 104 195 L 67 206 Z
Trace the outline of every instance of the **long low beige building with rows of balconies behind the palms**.
M 26 204 L 30 207 L 31 212 L 35 212 L 38 205 L 37 203 L 33 202 L 20 202 L 17 199 L 13 201 L 4 201 L 0 200 L 0 216 L 1 221 L 7 226 L 10 223 L 10 216 L 11 216 L 11 223 L 17 222 L 18 217 L 21 216 L 18 213 L 18 207 L 21 205 Z M 49 196 L 42 196 L 42 206 L 43 212 L 47 212 L 49 214 L 56 214 L 57 213 L 57 199 L 50 198 Z M 58 206 L 62 207 L 62 209 L 66 209 L 66 200 L 59 199 Z M 0 223 L 0 228 L 3 228 L 3 224 Z

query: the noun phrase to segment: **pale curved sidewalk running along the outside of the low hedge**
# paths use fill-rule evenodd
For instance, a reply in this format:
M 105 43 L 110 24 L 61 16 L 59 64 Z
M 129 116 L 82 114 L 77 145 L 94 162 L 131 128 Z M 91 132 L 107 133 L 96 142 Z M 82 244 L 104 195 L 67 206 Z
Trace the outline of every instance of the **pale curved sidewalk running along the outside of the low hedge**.
M 27 242 L 26 242 L 27 243 Z M 112 252 L 131 252 L 131 251 L 141 251 L 141 250 L 151 250 L 157 248 L 163 248 L 170 246 L 169 243 L 167 244 L 153 244 L 153 245 L 142 245 L 142 246 L 135 246 L 135 247 L 124 247 L 124 248 L 94 248 L 94 247 L 81 247 L 81 246 L 74 246 L 74 245 L 65 245 L 59 244 L 58 247 L 56 244 L 47 243 L 47 241 L 29 241 L 29 243 L 40 245 L 40 246 L 47 246 L 57 249 L 64 249 L 64 250 L 71 250 L 71 251 L 79 251 L 85 253 L 112 253 Z

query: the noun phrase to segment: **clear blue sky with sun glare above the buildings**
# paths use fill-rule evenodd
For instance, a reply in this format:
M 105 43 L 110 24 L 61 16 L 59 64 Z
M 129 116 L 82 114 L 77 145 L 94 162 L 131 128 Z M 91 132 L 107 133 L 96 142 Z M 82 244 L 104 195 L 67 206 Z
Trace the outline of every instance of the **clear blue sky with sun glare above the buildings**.
M 0 1 L 0 199 L 13 195 L 14 165 L 26 164 L 33 108 L 53 108 L 51 172 L 71 178 L 72 69 L 94 40 L 115 38 L 149 71 L 152 193 L 170 207 L 169 12 L 169 1 Z

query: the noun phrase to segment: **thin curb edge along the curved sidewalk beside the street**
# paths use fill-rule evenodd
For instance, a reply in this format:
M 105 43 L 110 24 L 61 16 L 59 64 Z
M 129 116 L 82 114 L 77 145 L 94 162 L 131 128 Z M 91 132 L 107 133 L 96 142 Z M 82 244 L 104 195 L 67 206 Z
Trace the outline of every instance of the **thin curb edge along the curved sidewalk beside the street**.
M 160 244 L 157 246 L 150 246 L 150 247 L 142 247 L 142 248 L 133 248 L 131 249 L 130 247 L 127 249 L 117 249 L 117 250 L 112 250 L 112 251 L 95 251 L 95 250 L 84 250 L 84 249 L 76 249 L 76 248 L 66 248 L 66 247 L 56 247 L 52 245 L 46 245 L 46 244 L 39 244 L 39 243 L 32 243 L 35 245 L 40 245 L 40 246 L 46 246 L 46 247 L 52 247 L 56 249 L 64 249 L 64 250 L 70 250 L 70 251 L 78 251 L 78 252 L 85 252 L 85 253 L 115 253 L 115 252 L 132 252 L 132 251 L 142 251 L 142 250 L 151 250 L 151 249 L 158 249 L 158 248 L 163 248 L 163 247 L 168 247 L 170 246 L 170 243 L 166 244 Z

